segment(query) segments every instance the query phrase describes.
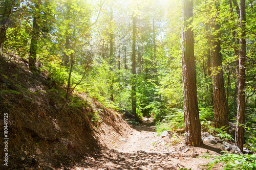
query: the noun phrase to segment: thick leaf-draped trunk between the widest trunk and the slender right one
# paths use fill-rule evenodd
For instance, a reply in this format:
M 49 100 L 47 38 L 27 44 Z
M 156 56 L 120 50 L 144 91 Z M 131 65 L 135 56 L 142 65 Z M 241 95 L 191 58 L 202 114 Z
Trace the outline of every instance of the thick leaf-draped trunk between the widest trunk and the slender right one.
M 218 12 L 218 5 L 217 5 Z M 214 122 L 216 128 L 228 127 L 228 105 L 225 93 L 222 56 L 221 56 L 221 37 L 220 25 L 210 23 L 212 30 L 211 50 L 212 50 L 212 85 L 214 88 Z M 228 128 L 226 129 L 228 132 Z

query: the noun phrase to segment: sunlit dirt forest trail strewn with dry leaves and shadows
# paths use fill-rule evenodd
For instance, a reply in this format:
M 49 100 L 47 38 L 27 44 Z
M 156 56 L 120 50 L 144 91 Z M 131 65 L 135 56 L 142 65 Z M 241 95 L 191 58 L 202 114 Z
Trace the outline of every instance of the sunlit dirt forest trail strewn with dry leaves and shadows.
M 96 157 L 89 156 L 71 169 L 206 169 L 200 165 L 207 164 L 212 158 L 203 158 L 203 153 L 220 155 L 208 145 L 184 147 L 184 136 L 175 132 L 158 136 L 152 124 L 132 124 L 131 127 L 125 137 L 112 141 L 115 146 L 112 150 Z

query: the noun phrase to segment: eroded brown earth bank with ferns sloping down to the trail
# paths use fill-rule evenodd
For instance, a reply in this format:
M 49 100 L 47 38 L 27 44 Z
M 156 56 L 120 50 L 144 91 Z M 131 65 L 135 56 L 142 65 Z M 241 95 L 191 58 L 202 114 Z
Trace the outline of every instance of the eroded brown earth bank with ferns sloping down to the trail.
M 32 72 L 14 54 L 0 56 L 0 169 L 54 169 L 113 147 L 130 126 L 120 114 L 86 93 L 73 93 L 59 113 L 65 87 Z M 8 114 L 8 152 L 4 151 L 4 114 Z

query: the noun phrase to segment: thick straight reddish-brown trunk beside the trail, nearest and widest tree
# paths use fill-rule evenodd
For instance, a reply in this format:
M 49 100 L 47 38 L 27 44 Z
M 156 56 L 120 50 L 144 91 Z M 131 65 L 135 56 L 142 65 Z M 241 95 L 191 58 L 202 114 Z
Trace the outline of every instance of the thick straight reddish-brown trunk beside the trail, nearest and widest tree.
M 183 81 L 183 108 L 185 122 L 185 143 L 199 146 L 202 143 L 201 125 L 199 120 L 197 85 L 196 85 L 196 58 L 194 56 L 194 33 L 188 28 L 193 17 L 193 1 L 182 1 L 182 81 Z

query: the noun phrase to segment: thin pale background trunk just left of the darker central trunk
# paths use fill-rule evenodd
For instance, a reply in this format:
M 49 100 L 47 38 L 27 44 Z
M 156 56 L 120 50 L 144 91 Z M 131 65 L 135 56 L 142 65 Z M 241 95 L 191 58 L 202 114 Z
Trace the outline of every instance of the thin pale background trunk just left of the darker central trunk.
M 110 7 L 110 71 L 113 71 L 112 66 L 113 66 L 113 2 L 111 2 L 111 7 Z M 114 78 L 111 77 L 111 84 L 110 84 L 110 100 L 114 101 L 114 94 L 113 94 L 113 83 L 114 83 Z

